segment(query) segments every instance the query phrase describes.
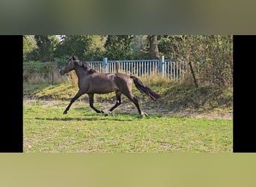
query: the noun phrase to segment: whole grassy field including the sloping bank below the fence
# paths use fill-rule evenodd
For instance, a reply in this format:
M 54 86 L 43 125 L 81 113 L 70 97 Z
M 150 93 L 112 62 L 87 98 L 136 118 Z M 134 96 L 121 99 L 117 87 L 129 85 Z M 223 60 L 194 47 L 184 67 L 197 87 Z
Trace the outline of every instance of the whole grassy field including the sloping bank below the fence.
M 140 79 L 161 94 L 160 99 L 152 102 L 132 86 L 141 109 L 150 114 L 143 118 L 125 96 L 114 115 L 97 114 L 88 107 L 86 94 L 64 115 L 64 109 L 78 91 L 77 85 L 24 82 L 24 98 L 37 99 L 24 100 L 24 152 L 233 152 L 231 89 L 209 85 L 195 88 L 159 76 Z M 115 93 L 96 94 L 94 102 L 97 108 L 106 110 L 115 104 Z

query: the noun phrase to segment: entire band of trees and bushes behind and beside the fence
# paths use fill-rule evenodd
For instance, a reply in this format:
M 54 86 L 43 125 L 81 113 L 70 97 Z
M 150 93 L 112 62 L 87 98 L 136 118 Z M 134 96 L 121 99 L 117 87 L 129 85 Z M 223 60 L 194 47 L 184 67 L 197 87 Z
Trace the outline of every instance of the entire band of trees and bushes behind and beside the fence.
M 233 84 L 232 35 L 24 35 L 23 61 L 185 60 L 195 85 Z

